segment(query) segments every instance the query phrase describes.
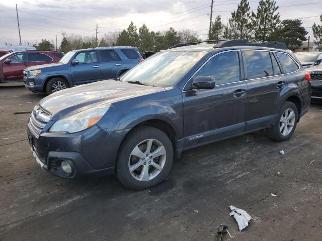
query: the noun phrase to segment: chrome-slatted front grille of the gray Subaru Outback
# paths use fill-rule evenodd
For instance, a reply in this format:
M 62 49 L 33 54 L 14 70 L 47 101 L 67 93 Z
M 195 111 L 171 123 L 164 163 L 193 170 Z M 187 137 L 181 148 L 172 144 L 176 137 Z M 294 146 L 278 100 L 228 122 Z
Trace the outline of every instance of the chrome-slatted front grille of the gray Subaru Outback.
M 36 138 L 39 137 L 50 117 L 50 114 L 42 110 L 39 105 L 34 107 L 29 118 L 28 127 Z

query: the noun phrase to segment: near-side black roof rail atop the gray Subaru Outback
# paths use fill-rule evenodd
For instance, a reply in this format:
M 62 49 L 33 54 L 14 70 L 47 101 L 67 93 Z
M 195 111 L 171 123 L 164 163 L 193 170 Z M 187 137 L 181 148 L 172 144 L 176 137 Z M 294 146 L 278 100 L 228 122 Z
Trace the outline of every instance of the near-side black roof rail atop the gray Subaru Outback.
M 247 43 L 244 39 L 238 40 L 225 40 L 221 41 L 214 48 L 224 48 L 224 47 L 232 47 L 232 46 L 257 46 L 257 47 L 268 47 L 275 49 L 288 49 L 285 43 L 277 42 L 277 41 L 269 41 L 266 43 Z

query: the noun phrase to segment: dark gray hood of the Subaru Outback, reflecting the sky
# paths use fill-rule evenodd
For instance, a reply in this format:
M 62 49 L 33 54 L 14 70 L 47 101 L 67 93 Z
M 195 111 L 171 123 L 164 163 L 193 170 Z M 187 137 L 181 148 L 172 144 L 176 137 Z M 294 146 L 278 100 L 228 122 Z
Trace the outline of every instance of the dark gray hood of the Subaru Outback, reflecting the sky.
M 163 90 L 164 88 L 161 87 L 131 84 L 111 79 L 60 90 L 40 100 L 39 105 L 51 114 L 52 121 L 56 121 L 101 104 Z

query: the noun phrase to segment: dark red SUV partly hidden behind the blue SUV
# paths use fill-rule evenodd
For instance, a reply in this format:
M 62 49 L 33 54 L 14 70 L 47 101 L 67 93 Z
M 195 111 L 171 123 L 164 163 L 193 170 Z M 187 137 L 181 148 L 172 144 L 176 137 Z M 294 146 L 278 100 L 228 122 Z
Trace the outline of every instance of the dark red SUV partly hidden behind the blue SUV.
M 24 69 L 41 64 L 57 63 L 64 54 L 57 51 L 28 50 L 0 57 L 0 83 L 23 81 Z

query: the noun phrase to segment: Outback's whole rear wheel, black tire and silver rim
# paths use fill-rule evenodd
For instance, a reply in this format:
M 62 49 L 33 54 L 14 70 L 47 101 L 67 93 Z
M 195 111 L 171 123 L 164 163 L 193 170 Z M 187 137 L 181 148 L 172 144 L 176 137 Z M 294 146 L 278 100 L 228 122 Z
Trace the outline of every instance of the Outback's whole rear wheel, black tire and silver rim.
M 288 115 L 288 119 L 284 118 L 286 114 Z M 295 131 L 297 120 L 298 112 L 296 105 L 293 102 L 285 101 L 278 114 L 275 125 L 273 128 L 268 129 L 269 137 L 278 142 L 288 140 Z

